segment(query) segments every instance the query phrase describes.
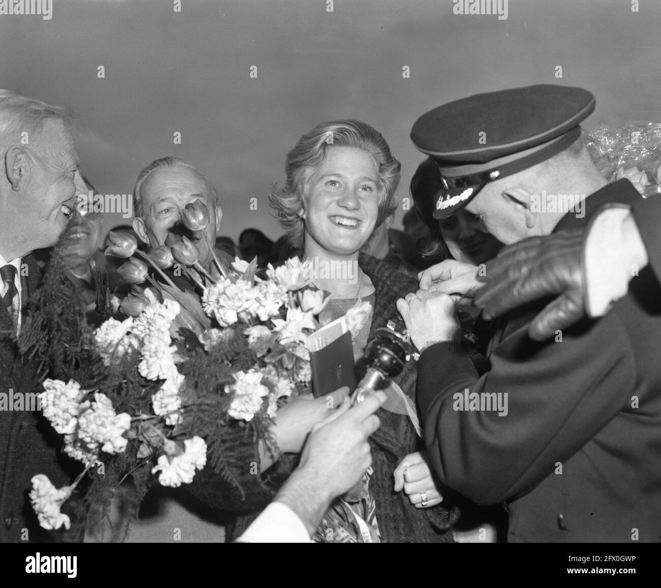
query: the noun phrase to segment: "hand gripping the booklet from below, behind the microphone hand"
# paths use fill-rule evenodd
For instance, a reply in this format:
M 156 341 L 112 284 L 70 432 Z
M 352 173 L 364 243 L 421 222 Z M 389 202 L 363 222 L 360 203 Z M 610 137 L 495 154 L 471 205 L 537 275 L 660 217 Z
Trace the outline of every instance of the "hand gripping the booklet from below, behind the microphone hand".
M 305 439 L 312 427 L 327 418 L 348 395 L 349 388 L 313 398 L 312 394 L 301 394 L 278 409 L 272 431 L 282 453 L 301 453 Z

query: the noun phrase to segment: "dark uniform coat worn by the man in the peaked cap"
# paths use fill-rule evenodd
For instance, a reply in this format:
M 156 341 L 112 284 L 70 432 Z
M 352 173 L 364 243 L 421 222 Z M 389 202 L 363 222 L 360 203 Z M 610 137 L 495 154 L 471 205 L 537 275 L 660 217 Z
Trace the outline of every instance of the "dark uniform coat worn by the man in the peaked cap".
M 569 213 L 555 231 L 586 225 L 605 203 L 641 200 L 628 180 L 608 184 L 585 200 L 584 218 Z M 641 233 L 661 251 L 658 223 Z M 510 541 L 661 540 L 661 287 L 653 271 L 661 264 L 658 253 L 650 258 L 611 312 L 555 339 L 527 335 L 548 299 L 510 312 L 482 377 L 460 344 L 438 343 L 420 357 L 418 408 L 434 468 L 478 503 L 506 503 Z M 508 414 L 454 410 L 453 394 L 464 388 L 507 394 Z

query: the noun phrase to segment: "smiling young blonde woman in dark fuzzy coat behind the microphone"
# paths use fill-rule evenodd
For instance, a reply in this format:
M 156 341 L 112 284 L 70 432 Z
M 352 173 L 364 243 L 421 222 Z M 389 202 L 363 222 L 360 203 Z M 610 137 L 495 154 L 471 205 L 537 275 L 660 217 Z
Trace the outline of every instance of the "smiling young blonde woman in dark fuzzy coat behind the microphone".
M 354 337 L 356 372 L 375 330 L 399 314 L 395 301 L 417 288 L 414 276 L 360 252 L 396 209 L 400 164 L 381 133 L 364 122 L 336 120 L 315 127 L 288 153 L 286 180 L 274 184 L 270 203 L 301 258 L 320 268 L 315 285 L 331 295 L 319 314 L 325 323 L 369 302 Z M 353 268 L 356 271 L 353 271 Z M 335 268 L 335 272 L 323 272 Z M 342 272 L 342 268 L 346 271 Z M 410 362 L 387 390 L 381 427 L 371 437 L 372 472 L 331 507 L 315 534 L 320 542 L 451 542 L 455 509 L 442 495 L 424 460 L 416 433 L 416 366 Z M 408 466 L 407 466 L 408 463 Z M 408 473 L 420 478 L 408 483 Z M 422 476 L 420 476 L 422 472 Z M 406 486 L 405 486 L 406 483 Z M 420 486 L 418 488 L 417 486 Z M 393 492 L 393 488 L 395 492 Z M 233 534 L 248 521 L 239 521 Z

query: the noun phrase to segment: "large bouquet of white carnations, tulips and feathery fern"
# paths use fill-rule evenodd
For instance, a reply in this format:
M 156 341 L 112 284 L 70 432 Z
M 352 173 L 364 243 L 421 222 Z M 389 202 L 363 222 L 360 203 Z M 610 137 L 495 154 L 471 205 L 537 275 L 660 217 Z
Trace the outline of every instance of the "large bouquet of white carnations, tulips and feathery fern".
M 182 219 L 199 231 L 208 210 L 196 201 Z M 83 494 L 76 519 L 94 529 L 129 477 L 137 503 L 154 478 L 176 487 L 205 466 L 232 482 L 222 443 L 228 427 L 276 452 L 270 421 L 279 403 L 309 388 L 305 340 L 328 302 L 311 283 L 311 262 L 269 266 L 260 279 L 256 260 L 228 267 L 214 255 L 209 272 L 186 237 L 145 253 L 132 235 L 111 232 L 106 254 L 127 258 L 118 270 L 126 281 L 148 285 L 120 303 L 97 275 L 100 324 L 93 328 L 71 312 L 77 298 L 63 277 L 67 233 L 21 339 L 23 353 L 50 376 L 43 414 L 63 435 L 64 453 L 82 464 L 71 486 L 55 488 L 43 474 L 32 479 L 42 527 L 69 529 L 60 507 Z M 166 270 L 188 277 L 202 295 L 176 287 Z M 83 479 L 85 491 L 75 493 Z

